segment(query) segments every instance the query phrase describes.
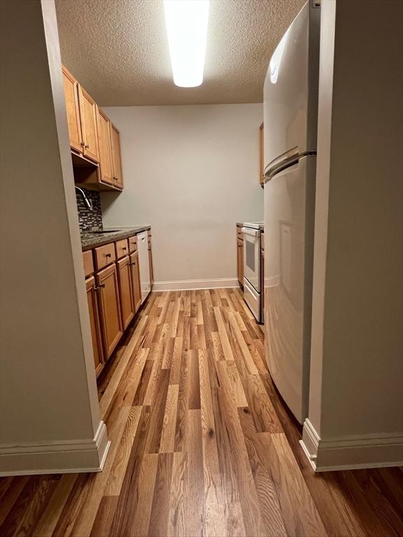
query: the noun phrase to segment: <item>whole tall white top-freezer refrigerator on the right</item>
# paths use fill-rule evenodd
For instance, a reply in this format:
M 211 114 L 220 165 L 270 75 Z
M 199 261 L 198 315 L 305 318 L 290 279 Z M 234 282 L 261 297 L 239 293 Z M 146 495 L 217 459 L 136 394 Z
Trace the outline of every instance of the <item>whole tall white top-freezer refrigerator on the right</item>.
M 271 378 L 308 415 L 320 7 L 307 2 L 264 80 L 264 327 Z

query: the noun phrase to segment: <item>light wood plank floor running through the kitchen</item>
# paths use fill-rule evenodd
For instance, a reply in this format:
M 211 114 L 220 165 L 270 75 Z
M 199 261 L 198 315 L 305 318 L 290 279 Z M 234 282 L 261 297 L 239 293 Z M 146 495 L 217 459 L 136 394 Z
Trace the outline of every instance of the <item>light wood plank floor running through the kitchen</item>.
M 238 289 L 154 293 L 99 382 L 97 474 L 0 480 L 6 536 L 402 536 L 400 468 L 314 475 Z

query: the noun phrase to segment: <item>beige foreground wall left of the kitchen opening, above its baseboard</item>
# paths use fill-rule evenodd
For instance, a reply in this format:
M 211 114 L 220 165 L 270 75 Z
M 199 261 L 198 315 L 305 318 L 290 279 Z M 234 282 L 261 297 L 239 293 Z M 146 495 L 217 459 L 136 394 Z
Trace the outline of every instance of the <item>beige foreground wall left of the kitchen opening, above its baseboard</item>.
M 1 79 L 0 455 L 24 471 L 101 424 L 53 1 L 1 2 Z

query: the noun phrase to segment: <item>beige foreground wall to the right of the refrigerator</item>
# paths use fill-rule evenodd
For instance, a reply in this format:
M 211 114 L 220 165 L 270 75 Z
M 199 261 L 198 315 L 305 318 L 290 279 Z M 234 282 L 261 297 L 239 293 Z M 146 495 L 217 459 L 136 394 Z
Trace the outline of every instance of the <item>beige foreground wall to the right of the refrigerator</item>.
M 309 420 L 403 431 L 401 1 L 325 1 Z

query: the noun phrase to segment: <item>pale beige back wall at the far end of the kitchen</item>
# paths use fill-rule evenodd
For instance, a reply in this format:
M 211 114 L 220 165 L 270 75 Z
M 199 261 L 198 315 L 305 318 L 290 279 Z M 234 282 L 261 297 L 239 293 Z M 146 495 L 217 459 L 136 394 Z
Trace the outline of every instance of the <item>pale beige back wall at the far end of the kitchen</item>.
M 107 108 L 125 191 L 101 194 L 104 224 L 151 224 L 155 280 L 234 279 L 235 223 L 262 220 L 261 104 Z M 158 287 L 158 285 L 157 285 Z

